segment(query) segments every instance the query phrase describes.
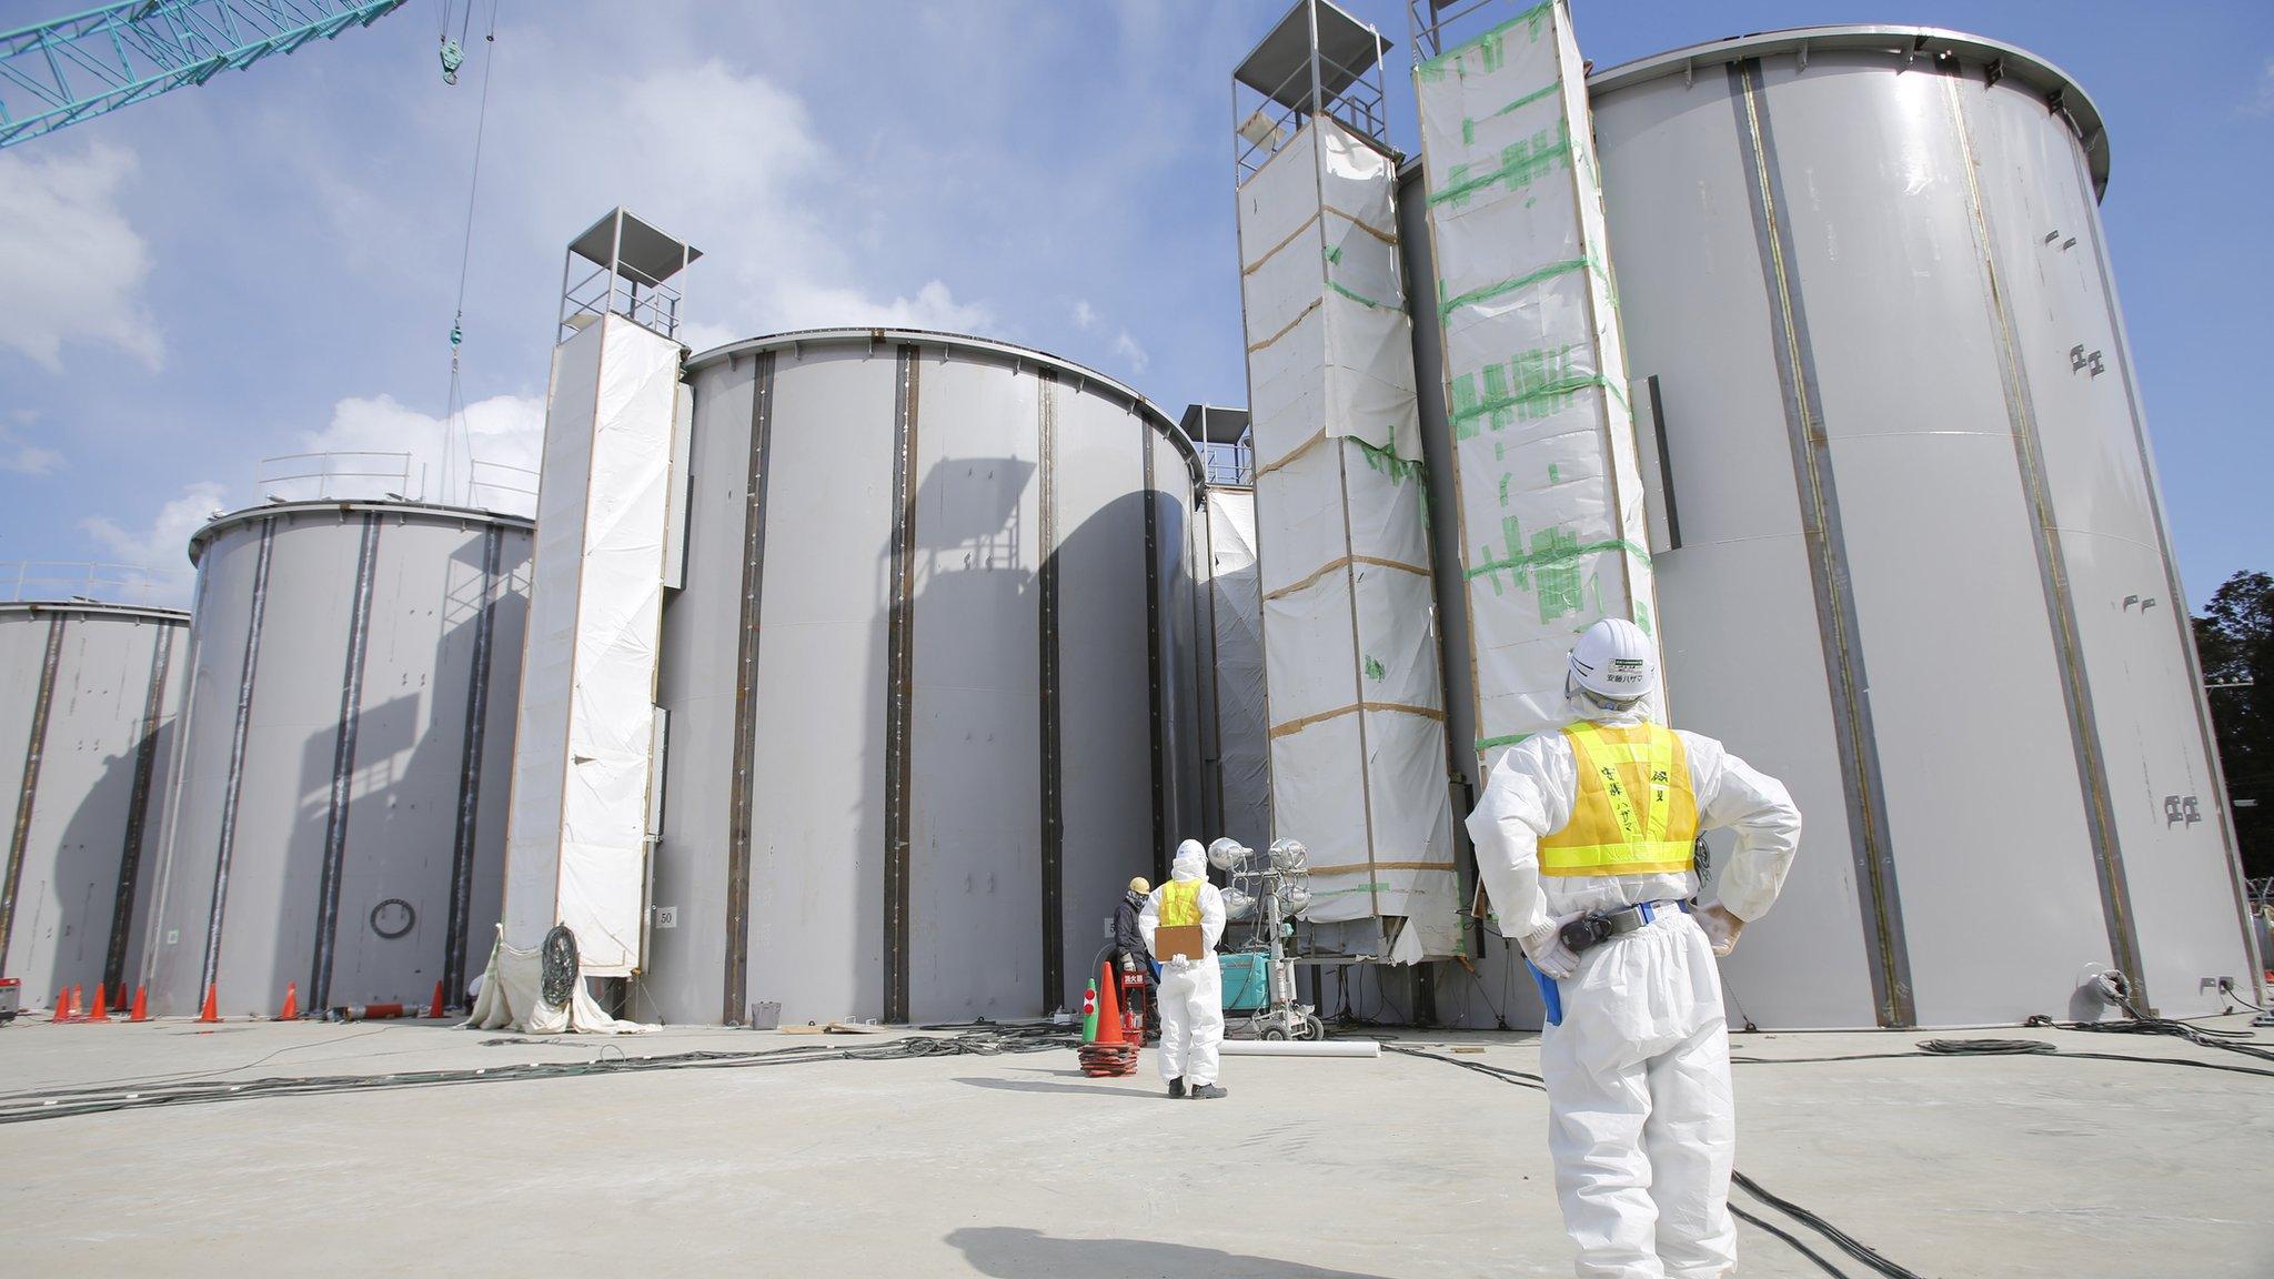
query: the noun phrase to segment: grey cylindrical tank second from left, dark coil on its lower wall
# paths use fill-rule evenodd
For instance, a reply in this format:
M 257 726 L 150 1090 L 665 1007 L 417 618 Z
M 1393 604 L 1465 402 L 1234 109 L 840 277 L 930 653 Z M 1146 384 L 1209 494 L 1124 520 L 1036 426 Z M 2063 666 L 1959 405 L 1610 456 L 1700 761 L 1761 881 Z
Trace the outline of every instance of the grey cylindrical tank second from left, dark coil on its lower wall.
M 462 1001 L 498 919 L 530 521 L 280 503 L 189 544 L 189 705 L 150 997 Z

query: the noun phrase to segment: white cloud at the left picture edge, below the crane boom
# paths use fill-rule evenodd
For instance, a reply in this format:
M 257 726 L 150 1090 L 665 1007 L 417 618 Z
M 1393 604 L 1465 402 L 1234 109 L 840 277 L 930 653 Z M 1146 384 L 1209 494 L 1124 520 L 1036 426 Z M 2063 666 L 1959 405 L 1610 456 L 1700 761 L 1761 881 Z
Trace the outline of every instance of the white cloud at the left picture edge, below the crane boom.
M 150 371 L 166 362 L 143 303 L 150 248 L 118 212 L 132 175 L 134 152 L 105 143 L 0 155 L 0 348 L 50 373 L 68 341 L 114 346 Z

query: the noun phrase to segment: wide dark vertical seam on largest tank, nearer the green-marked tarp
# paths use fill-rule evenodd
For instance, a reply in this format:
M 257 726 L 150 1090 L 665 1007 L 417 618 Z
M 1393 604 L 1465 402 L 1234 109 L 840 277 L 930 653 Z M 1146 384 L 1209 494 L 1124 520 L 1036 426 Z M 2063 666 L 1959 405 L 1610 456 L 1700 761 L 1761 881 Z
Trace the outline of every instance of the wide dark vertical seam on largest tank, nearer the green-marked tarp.
M 1903 906 L 1894 874 L 1894 837 L 1878 771 L 1878 735 L 1872 724 L 1869 678 L 1862 633 L 1849 587 L 1846 539 L 1840 523 L 1840 492 L 1833 480 L 1831 439 L 1817 391 L 1815 353 L 1799 282 L 1785 264 L 1787 225 L 1783 180 L 1776 173 L 1776 141 L 1767 105 L 1758 100 L 1760 61 L 1731 64 L 1731 102 L 1737 114 L 1737 150 L 1751 187 L 1753 232 L 1760 241 L 1762 284 L 1769 294 L 1776 339 L 1776 373 L 1783 385 L 1785 428 L 1799 485 L 1801 533 L 1808 544 L 1808 576 L 1824 635 L 1824 674 L 1833 726 L 1840 742 L 1840 774 L 1849 803 L 1849 840 L 1862 888 L 1862 933 L 1869 951 L 1872 995 L 1885 1026 L 1917 1024 L 1910 990 L 1910 951 L 1903 938 Z

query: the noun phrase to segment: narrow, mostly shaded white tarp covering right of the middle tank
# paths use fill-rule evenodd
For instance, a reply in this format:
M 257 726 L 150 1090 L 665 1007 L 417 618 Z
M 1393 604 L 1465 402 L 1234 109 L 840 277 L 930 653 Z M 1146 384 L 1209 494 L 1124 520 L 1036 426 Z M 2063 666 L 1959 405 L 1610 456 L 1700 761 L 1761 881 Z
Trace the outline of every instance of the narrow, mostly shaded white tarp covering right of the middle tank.
M 1264 617 L 1255 578 L 1255 494 L 1207 492 L 1207 596 L 1214 621 L 1217 785 L 1223 831 L 1251 849 L 1271 840 Z

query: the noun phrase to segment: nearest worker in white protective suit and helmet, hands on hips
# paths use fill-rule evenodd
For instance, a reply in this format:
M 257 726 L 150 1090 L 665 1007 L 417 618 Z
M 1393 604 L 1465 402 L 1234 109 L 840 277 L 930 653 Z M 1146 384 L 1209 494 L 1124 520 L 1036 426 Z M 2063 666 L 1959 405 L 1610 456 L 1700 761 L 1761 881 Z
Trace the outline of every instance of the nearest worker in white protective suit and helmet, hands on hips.
M 1801 837 L 1783 783 L 1649 719 L 1655 690 L 1642 628 L 1590 626 L 1565 683 L 1571 724 L 1510 746 L 1469 815 L 1501 935 L 1549 1001 L 1549 1152 L 1583 1279 L 1703 1279 L 1737 1263 L 1715 956 L 1776 901 Z M 1696 833 L 1721 826 L 1737 847 L 1717 901 L 1692 910 Z

